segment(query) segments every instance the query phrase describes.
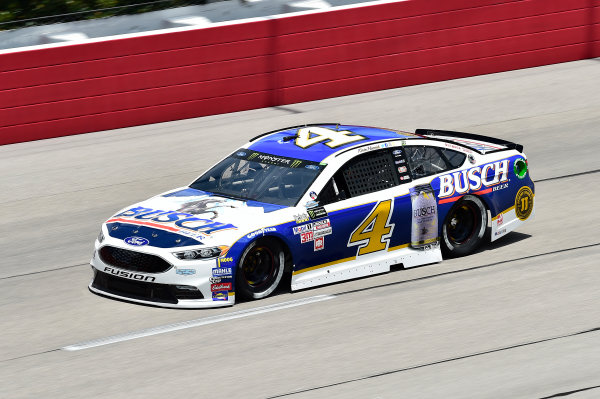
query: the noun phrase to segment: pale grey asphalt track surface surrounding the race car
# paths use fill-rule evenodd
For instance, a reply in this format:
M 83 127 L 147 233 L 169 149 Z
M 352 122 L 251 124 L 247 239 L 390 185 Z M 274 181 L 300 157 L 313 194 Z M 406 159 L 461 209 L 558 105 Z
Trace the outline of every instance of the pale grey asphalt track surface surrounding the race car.
M 0 147 L 0 397 L 600 397 L 599 89 L 584 60 Z M 471 256 L 232 308 L 88 292 L 115 211 L 321 121 L 521 143 L 536 215 Z

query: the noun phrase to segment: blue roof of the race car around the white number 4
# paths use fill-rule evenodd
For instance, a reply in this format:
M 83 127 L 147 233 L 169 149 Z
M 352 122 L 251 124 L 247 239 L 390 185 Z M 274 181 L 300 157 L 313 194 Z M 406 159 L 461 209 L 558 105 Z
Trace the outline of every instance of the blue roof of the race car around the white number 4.
M 325 128 L 334 131 L 349 131 L 346 133 L 349 136 L 359 135 L 364 139 L 353 141 L 348 144 L 340 145 L 335 148 L 330 148 L 325 144 L 328 140 L 321 141 L 307 148 L 302 148 L 296 145 L 295 136 L 302 128 Z M 247 147 L 253 151 L 264 152 L 273 155 L 286 156 L 290 158 L 305 159 L 313 162 L 321 162 L 328 156 L 337 152 L 344 151 L 350 147 L 363 146 L 369 143 L 382 140 L 403 140 L 421 138 L 414 133 L 401 132 L 392 129 L 383 129 L 368 126 L 353 126 L 339 124 L 311 124 L 293 126 L 277 130 L 274 132 L 265 133 L 251 140 L 251 144 Z

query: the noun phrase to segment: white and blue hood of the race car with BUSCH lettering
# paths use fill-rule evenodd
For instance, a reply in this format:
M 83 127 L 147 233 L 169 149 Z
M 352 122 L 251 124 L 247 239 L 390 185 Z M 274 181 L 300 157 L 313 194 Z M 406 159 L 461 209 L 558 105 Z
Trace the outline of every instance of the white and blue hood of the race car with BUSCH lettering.
M 268 226 L 282 205 L 242 201 L 192 188 L 176 189 L 122 209 L 106 221 L 108 234 L 129 245 L 227 245 Z

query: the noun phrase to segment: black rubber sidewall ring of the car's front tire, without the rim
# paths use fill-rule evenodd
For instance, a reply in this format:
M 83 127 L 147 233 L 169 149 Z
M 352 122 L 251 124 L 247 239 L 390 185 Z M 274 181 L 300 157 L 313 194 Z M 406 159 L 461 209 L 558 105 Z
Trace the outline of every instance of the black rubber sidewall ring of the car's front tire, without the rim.
M 246 256 L 252 251 L 256 246 L 262 245 L 268 247 L 274 255 L 274 260 L 276 264 L 276 272 L 275 279 L 269 284 L 265 289 L 261 291 L 255 291 L 248 285 L 244 277 L 244 271 L 242 270 L 242 265 L 244 264 L 244 260 Z M 283 277 L 283 269 L 284 269 L 285 257 L 281 245 L 279 245 L 275 240 L 269 240 L 268 238 L 261 238 L 251 242 L 240 257 L 240 261 L 238 262 L 236 269 L 236 277 L 235 277 L 235 290 L 236 295 L 239 294 L 244 299 L 262 299 L 275 291 L 281 278 Z

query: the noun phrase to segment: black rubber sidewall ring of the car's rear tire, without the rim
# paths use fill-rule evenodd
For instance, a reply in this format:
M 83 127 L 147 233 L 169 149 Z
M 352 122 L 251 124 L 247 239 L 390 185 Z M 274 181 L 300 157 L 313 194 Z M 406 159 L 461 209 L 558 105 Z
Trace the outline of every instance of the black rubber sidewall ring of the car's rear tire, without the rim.
M 462 244 L 453 244 L 448 238 L 448 223 L 456 208 L 462 206 L 465 202 L 470 202 L 474 205 L 478 215 L 476 215 L 476 233 Z M 487 230 L 487 209 L 483 201 L 474 195 L 465 195 L 457 202 L 446 215 L 446 219 L 442 225 L 442 250 L 444 255 L 449 257 L 463 256 L 475 251 L 484 241 Z

